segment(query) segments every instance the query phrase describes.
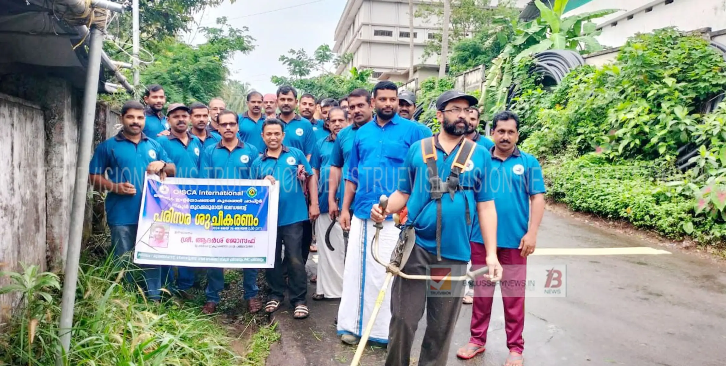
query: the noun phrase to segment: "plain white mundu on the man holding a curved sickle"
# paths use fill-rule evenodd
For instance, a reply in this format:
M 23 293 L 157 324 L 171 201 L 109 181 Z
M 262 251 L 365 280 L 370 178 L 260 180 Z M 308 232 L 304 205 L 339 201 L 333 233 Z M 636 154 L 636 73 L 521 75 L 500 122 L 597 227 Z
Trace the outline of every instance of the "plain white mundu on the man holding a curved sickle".
M 328 299 L 339 299 L 343 296 L 343 267 L 346 259 L 346 245 L 343 241 L 343 229 L 340 223 L 335 222 L 330 230 L 330 251 L 325 244 L 325 232 L 330 227 L 330 216 L 327 213 L 315 220 L 315 236 L 318 247 L 317 287 L 316 294 L 322 294 Z

